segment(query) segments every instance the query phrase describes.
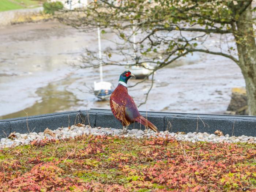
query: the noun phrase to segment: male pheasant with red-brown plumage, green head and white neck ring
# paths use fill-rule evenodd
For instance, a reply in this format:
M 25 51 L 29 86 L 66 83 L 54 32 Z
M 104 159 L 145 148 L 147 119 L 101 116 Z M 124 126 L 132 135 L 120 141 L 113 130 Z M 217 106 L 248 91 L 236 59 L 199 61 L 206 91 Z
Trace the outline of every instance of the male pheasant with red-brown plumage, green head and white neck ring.
M 118 86 L 110 96 L 110 107 L 114 116 L 123 124 L 123 133 L 126 132 L 129 124 L 135 121 L 149 127 L 155 132 L 159 132 L 157 127 L 146 118 L 142 117 L 135 102 L 127 91 L 127 81 L 134 76 L 130 71 L 125 71 L 120 75 Z M 126 126 L 126 130 L 125 127 Z

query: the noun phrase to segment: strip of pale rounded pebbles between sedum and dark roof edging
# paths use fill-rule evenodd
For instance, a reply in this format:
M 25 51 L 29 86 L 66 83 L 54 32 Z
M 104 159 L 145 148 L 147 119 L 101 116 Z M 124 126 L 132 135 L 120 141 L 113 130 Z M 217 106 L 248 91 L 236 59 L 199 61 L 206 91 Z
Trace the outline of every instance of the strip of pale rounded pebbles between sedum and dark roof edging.
M 196 132 L 189 132 L 184 134 L 183 132 L 179 133 L 170 133 L 168 131 L 160 131 L 160 133 L 155 133 L 152 130 L 139 130 L 139 129 L 132 129 L 128 130 L 127 134 L 122 134 L 122 129 L 115 129 L 115 128 L 92 128 L 89 125 L 79 124 L 79 126 L 72 125 L 70 128 L 57 128 L 55 130 L 47 129 L 45 132 L 32 132 L 32 133 L 11 133 L 9 138 L 2 138 L 0 142 L 0 148 L 5 147 L 15 147 L 19 145 L 27 145 L 30 144 L 31 141 L 34 140 L 42 140 L 42 139 L 64 139 L 64 138 L 74 138 L 79 135 L 117 135 L 120 137 L 133 137 L 133 138 L 151 138 L 151 137 L 162 137 L 162 138 L 174 138 L 179 141 L 188 141 L 188 142 L 197 142 L 197 141 L 204 141 L 204 142 L 224 142 L 224 143 L 256 143 L 256 137 L 252 136 L 229 136 L 228 134 L 225 136 L 217 136 L 214 134 L 209 133 L 196 133 Z

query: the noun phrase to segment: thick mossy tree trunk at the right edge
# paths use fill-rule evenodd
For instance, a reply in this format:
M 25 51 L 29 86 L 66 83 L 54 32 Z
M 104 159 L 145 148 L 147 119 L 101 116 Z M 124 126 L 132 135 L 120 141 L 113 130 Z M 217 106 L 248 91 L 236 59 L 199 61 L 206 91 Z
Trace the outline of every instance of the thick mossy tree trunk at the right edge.
M 233 23 L 239 67 L 244 75 L 249 115 L 256 116 L 256 44 L 253 33 L 251 5 Z

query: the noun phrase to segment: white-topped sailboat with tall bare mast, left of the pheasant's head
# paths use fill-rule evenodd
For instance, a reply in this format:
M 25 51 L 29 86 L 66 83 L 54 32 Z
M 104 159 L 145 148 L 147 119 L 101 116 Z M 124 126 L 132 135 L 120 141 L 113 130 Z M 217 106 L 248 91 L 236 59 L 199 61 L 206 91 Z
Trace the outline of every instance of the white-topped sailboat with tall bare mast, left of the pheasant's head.
M 94 82 L 94 95 L 99 99 L 107 99 L 113 92 L 112 84 L 103 81 L 102 55 L 101 55 L 101 33 L 98 27 L 98 46 L 99 46 L 99 78 L 100 82 Z

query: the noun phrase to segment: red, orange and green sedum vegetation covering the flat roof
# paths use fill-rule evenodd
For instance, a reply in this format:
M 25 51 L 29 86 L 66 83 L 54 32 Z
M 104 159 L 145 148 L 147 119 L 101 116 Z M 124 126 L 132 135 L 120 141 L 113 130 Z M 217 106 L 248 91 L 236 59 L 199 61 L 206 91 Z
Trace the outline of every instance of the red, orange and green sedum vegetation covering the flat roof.
M 80 136 L 0 150 L 0 191 L 255 190 L 255 144 Z

